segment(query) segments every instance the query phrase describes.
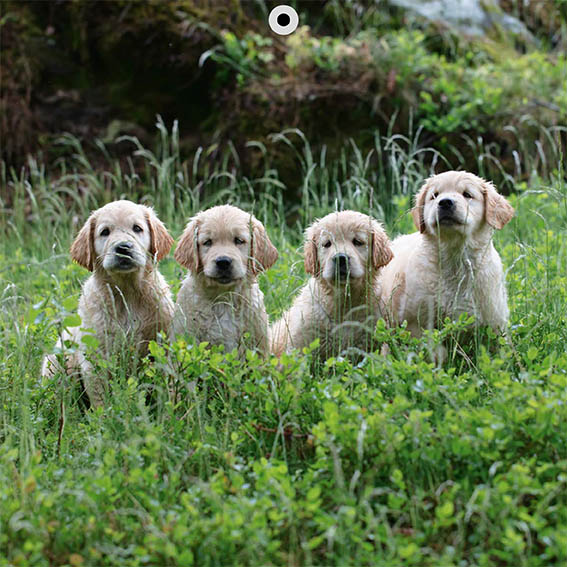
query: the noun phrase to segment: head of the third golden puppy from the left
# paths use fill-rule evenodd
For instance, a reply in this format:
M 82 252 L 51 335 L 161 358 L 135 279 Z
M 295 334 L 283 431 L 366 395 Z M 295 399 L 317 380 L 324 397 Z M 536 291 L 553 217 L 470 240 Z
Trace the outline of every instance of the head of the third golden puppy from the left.
M 392 259 L 389 240 L 374 219 L 355 211 L 331 213 L 306 232 L 305 271 L 334 286 L 362 280 Z

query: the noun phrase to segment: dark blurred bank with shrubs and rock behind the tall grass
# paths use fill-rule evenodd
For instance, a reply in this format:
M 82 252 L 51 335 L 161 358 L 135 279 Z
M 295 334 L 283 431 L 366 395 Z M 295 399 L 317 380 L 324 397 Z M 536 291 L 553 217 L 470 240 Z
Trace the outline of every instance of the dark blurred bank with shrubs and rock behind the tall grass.
M 5 167 L 65 159 L 69 133 L 96 168 L 95 140 L 120 160 L 132 152 L 124 135 L 155 146 L 158 116 L 167 129 L 178 121 L 182 161 L 229 152 L 252 177 L 268 162 L 290 198 L 304 172 L 270 136 L 289 128 L 328 162 L 345 140 L 367 156 L 377 136 L 400 135 L 441 170 L 517 182 L 558 167 L 565 0 L 289 2 L 300 24 L 288 37 L 267 24 L 278 4 L 1 2 Z

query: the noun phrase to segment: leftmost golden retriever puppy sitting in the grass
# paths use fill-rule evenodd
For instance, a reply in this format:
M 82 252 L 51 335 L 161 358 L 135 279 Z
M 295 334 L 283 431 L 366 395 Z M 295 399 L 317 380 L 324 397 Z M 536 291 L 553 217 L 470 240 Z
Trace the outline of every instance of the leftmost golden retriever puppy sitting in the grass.
M 85 355 L 85 334 L 93 334 L 104 356 L 131 350 L 147 352 L 149 341 L 166 331 L 173 316 L 169 286 L 155 264 L 169 253 L 173 239 L 154 211 L 131 201 L 114 201 L 94 211 L 71 246 L 71 257 L 93 272 L 79 299 L 81 326 L 59 341 L 77 343 L 67 357 L 92 406 L 103 404 L 105 380 L 95 375 Z M 43 375 L 60 370 L 54 355 L 43 362 Z

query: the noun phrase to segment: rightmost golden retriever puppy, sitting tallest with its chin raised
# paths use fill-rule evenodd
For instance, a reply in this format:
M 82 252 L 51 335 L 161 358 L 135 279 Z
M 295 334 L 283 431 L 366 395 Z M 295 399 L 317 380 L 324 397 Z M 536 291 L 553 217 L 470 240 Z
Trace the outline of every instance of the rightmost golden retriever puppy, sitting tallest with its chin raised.
M 382 271 L 383 300 L 414 336 L 462 313 L 504 331 L 508 302 L 502 262 L 492 233 L 514 215 L 492 183 L 447 171 L 429 178 L 412 210 L 419 232 L 392 243 L 394 260 Z M 443 352 L 441 352 L 443 351 Z M 442 362 L 443 348 L 436 359 Z

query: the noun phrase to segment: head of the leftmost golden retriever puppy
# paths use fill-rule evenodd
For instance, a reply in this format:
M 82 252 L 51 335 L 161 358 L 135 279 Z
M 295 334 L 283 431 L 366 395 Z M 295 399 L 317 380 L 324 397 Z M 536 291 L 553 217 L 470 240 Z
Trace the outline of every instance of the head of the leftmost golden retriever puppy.
M 91 214 L 71 246 L 72 258 L 90 271 L 129 273 L 151 266 L 173 239 L 149 207 L 114 201 Z

